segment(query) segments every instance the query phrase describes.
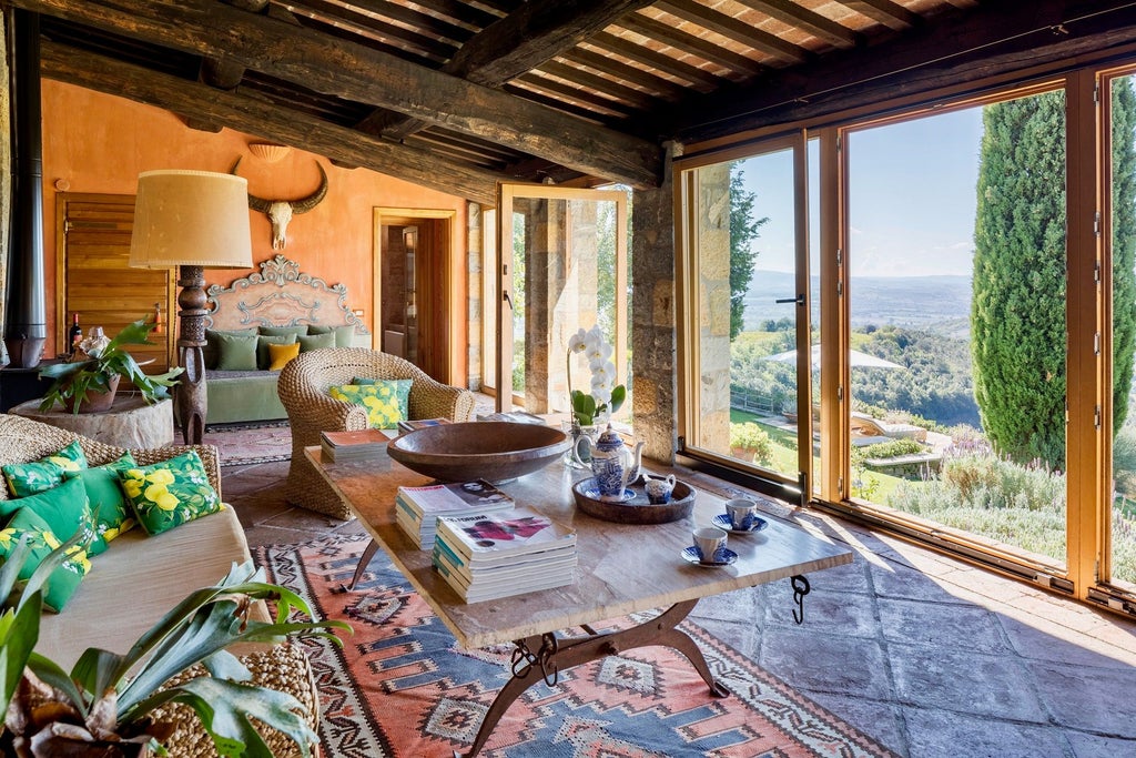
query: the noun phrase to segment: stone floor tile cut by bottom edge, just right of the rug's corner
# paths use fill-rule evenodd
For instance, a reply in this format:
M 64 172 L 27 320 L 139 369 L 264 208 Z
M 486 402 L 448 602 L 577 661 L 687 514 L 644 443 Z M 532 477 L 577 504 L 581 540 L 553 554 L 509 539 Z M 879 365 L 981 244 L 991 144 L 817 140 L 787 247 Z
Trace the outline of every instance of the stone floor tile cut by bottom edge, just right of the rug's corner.
M 1064 758 L 1060 730 L 978 718 L 937 709 L 904 708 L 911 758 Z

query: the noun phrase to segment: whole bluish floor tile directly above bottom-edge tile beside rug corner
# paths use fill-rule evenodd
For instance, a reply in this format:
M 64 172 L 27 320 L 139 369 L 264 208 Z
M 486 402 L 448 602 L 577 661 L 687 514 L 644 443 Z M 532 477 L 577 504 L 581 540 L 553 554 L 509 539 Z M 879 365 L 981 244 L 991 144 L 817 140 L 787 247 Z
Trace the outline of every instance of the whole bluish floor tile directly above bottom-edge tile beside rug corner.
M 1049 722 L 1033 673 L 1017 657 L 899 643 L 888 644 L 887 652 L 895 694 L 904 705 L 1018 722 Z

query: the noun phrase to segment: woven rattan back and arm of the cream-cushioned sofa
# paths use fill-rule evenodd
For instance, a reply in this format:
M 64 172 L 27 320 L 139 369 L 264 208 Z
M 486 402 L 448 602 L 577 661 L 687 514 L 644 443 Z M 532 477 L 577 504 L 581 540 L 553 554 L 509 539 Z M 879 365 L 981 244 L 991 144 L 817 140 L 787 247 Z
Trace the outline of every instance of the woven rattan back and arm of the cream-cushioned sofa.
M 126 448 L 97 442 L 75 432 L 41 424 L 40 422 L 34 422 L 22 416 L 0 414 L 0 465 L 37 460 L 65 448 L 75 440 L 78 440 L 80 447 L 83 448 L 83 455 L 86 456 L 87 463 L 91 466 L 109 464 L 126 452 Z M 220 467 L 217 448 L 211 444 L 168 445 L 149 449 L 132 448 L 130 452 L 135 461 L 145 466 L 168 460 L 189 450 L 197 450 L 201 457 L 201 463 L 204 464 L 209 483 L 212 484 L 214 489 L 217 490 L 217 494 L 220 495 Z M 8 488 L 0 484 L 0 500 L 7 500 L 9 497 Z M 128 547 L 118 549 L 130 550 Z M 92 572 L 99 570 L 98 561 L 99 559 L 95 558 Z M 222 577 L 218 576 L 217 578 Z M 184 594 L 169 598 L 170 607 L 194 589 L 198 588 L 187 588 Z M 128 588 L 124 588 L 124 592 L 128 591 Z M 112 613 L 112 599 L 108 598 L 107 610 L 108 613 Z M 119 609 L 119 611 L 131 613 L 128 607 Z M 67 609 L 59 615 L 58 619 L 67 619 Z M 120 650 L 119 652 L 125 652 L 125 650 Z M 319 694 L 308 657 L 299 645 L 270 645 L 267 649 L 248 652 L 241 656 L 241 660 L 244 661 L 252 674 L 253 683 L 295 695 L 303 708 L 303 717 L 308 722 L 308 725 L 312 730 L 316 728 L 319 722 Z M 200 676 L 204 673 L 203 668 L 198 667 L 184 672 L 170 682 L 181 682 L 190 676 Z M 215 758 L 217 756 L 212 740 L 209 739 L 201 727 L 201 722 L 198 720 L 197 714 L 187 706 L 176 703 L 165 706 L 156 711 L 154 716 L 158 720 L 175 724 L 173 735 L 165 742 L 172 756 L 179 756 L 182 758 Z M 300 755 L 296 744 L 284 734 L 265 730 L 262 731 L 262 735 L 268 747 L 273 750 L 274 756 L 291 758 Z

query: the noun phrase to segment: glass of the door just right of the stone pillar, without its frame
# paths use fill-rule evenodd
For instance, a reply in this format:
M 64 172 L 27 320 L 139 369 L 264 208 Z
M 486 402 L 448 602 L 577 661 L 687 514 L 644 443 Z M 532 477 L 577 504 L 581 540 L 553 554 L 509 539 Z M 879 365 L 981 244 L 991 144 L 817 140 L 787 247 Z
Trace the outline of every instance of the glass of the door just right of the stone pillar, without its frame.
M 793 150 L 700 168 L 698 188 L 696 444 L 796 481 Z

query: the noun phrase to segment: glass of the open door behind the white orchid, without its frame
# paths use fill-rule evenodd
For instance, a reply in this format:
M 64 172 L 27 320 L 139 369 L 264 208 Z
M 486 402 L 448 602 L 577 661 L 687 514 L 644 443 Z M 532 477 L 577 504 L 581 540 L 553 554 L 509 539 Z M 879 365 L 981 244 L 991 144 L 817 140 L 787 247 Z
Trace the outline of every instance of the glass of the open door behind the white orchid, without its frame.
M 513 393 L 531 413 L 567 414 L 578 390 L 595 401 L 586 420 L 626 418 L 628 298 L 617 280 L 626 282 L 627 260 L 617 255 L 617 203 L 518 198 L 512 214 Z M 609 351 L 603 360 L 570 353 L 571 338 L 593 327 Z

